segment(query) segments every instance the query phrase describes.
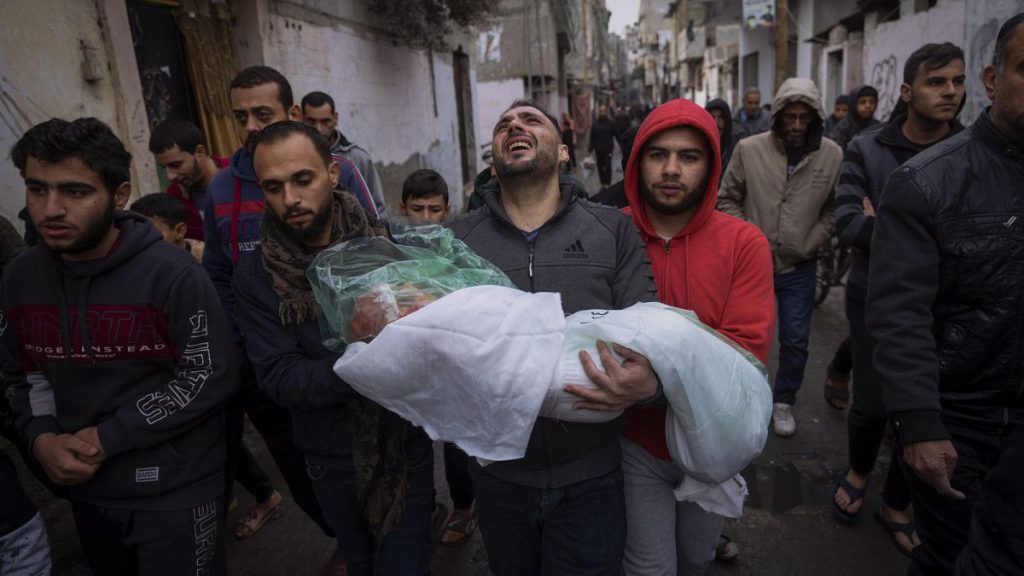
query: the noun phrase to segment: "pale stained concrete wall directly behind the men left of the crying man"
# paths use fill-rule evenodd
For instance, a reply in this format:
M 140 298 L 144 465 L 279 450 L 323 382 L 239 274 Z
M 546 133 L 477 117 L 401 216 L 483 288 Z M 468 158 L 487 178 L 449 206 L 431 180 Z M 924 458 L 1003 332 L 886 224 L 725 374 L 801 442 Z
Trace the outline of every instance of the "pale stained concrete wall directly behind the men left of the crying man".
M 312 90 L 334 97 L 339 128 L 374 159 L 392 213 L 419 168 L 437 170 L 453 210 L 462 208 L 451 54 L 395 46 L 362 24 L 286 2 L 271 2 L 264 34 L 265 64 L 288 77 L 296 100 Z

